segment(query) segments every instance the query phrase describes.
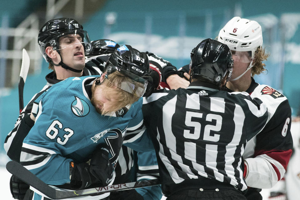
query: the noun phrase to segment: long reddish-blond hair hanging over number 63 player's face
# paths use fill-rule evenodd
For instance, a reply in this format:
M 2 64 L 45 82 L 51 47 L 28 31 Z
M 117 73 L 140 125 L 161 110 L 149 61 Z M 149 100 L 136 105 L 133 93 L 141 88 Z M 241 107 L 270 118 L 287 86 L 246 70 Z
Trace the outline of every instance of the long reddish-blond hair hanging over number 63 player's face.
M 116 71 L 109 74 L 109 80 L 104 79 L 104 81 L 101 83 L 103 93 L 109 94 L 109 98 L 116 101 L 115 104 L 110 107 L 110 111 L 102 110 L 102 114 L 116 112 L 120 108 L 133 104 L 140 98 L 134 94 L 126 92 L 121 88 L 118 88 L 117 86 L 122 82 L 133 82 L 133 80 Z

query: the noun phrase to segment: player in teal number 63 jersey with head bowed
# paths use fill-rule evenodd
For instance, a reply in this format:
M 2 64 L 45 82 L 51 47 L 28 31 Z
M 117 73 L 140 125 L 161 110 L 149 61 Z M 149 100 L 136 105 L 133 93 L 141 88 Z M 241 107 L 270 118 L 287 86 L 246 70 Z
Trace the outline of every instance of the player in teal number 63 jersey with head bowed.
M 71 77 L 53 85 L 33 105 L 35 124 L 23 141 L 20 163 L 45 183 L 65 184 L 65 189 L 112 183 L 126 129 L 142 126 L 141 97 L 151 84 L 147 55 L 123 45 L 109 57 L 101 77 Z M 147 146 L 147 138 L 142 147 L 131 145 Z M 32 199 L 47 197 L 34 193 Z

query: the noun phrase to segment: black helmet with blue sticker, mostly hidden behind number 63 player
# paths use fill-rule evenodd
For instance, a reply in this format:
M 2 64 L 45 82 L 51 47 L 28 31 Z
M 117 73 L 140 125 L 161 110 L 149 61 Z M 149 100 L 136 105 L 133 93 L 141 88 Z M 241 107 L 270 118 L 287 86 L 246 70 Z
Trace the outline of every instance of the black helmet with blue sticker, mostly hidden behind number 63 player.
M 86 54 L 87 57 L 113 53 L 116 48 L 120 47 L 117 42 L 108 39 L 94 40 L 91 43 L 92 49 L 90 53 Z

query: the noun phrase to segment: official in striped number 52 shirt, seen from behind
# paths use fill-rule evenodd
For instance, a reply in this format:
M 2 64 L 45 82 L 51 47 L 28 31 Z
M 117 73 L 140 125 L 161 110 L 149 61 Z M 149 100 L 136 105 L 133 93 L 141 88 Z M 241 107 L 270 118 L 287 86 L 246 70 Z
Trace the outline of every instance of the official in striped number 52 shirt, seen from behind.
M 247 93 L 220 91 L 232 64 L 227 45 L 203 40 L 191 53 L 189 87 L 144 99 L 145 124 L 167 199 L 246 199 L 242 153 L 268 113 Z

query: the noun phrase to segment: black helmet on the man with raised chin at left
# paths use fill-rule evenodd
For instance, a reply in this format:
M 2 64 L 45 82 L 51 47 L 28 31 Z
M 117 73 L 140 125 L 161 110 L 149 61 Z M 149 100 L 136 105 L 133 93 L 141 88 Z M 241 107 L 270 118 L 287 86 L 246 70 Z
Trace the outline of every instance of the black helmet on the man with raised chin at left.
M 52 46 L 53 50 L 59 53 L 58 39 L 68 34 L 79 34 L 82 37 L 82 44 L 85 53 L 91 50 L 91 40 L 88 33 L 83 30 L 83 26 L 71 18 L 56 18 L 46 22 L 38 33 L 37 42 L 40 52 L 47 62 L 51 59 L 47 56 L 45 49 Z

